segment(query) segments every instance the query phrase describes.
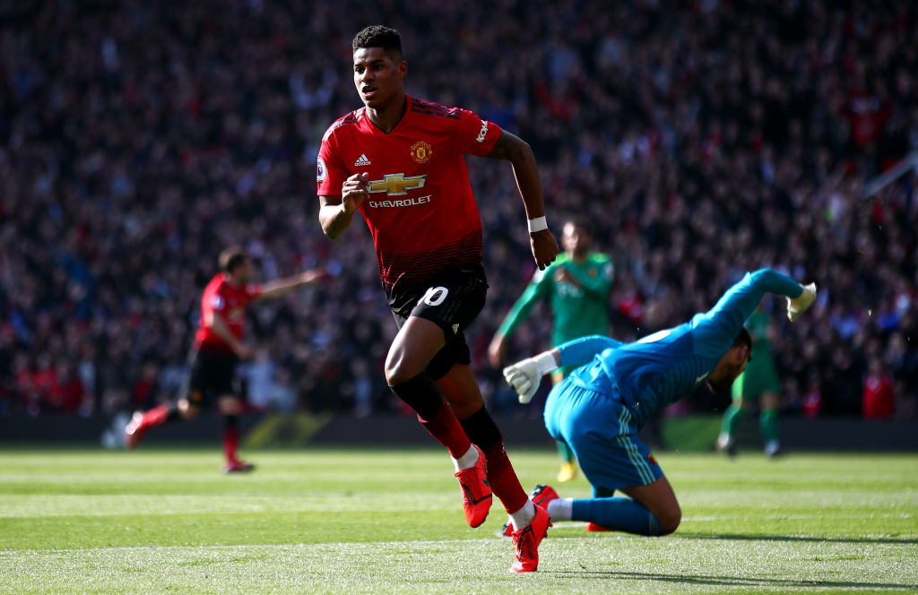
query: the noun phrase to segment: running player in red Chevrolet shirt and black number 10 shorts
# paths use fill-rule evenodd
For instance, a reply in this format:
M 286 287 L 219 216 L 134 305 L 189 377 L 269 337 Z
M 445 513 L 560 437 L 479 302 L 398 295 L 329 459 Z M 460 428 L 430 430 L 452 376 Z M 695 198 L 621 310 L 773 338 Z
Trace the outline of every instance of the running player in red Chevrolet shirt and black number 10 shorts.
M 515 529 L 510 570 L 532 571 L 550 523 L 509 462 L 465 343 L 487 293 L 465 153 L 511 163 L 539 268 L 554 261 L 558 245 L 530 146 L 470 111 L 406 95 L 407 73 L 397 30 L 375 25 L 354 37 L 353 80 L 364 107 L 335 121 L 322 139 L 319 222 L 335 238 L 360 211 L 399 328 L 386 382 L 453 458 L 466 522 L 485 521 L 493 490 Z

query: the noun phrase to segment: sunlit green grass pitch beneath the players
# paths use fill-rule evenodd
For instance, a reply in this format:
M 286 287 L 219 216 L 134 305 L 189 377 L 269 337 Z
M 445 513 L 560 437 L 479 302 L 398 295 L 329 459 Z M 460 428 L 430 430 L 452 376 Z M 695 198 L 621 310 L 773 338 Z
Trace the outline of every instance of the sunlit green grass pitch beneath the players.
M 527 489 L 554 452 L 509 449 Z M 659 453 L 683 521 L 660 538 L 559 522 L 539 571 L 465 526 L 429 449 L 0 448 L 0 593 L 918 592 L 918 455 Z M 583 497 L 578 477 L 556 485 Z

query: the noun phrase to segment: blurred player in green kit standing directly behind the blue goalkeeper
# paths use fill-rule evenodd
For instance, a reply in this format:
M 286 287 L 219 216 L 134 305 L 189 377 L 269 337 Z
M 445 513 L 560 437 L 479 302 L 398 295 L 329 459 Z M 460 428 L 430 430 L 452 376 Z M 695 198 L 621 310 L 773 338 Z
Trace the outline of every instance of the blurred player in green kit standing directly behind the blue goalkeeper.
M 554 314 L 552 345 L 609 331 L 607 302 L 615 269 L 608 255 L 589 251 L 592 241 L 587 219 L 565 220 L 561 237 L 565 253 L 558 255 L 544 271 L 537 270 L 532 275 L 529 286 L 513 304 L 488 347 L 491 365 L 500 367 L 510 335 L 529 317 L 535 303 L 544 297 L 551 299 Z M 573 370 L 573 367 L 558 368 L 552 380 L 558 383 Z M 558 481 L 569 481 L 577 475 L 574 453 L 563 442 L 558 442 L 557 446 L 562 461 Z

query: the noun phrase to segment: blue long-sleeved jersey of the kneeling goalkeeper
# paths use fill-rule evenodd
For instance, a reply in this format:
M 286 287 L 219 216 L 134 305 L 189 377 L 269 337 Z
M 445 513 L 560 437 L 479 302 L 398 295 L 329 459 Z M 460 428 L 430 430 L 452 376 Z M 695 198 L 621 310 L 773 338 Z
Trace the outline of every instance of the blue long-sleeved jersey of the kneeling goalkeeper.
M 801 292 L 788 276 L 759 269 L 747 273 L 710 311 L 672 329 L 631 343 L 599 335 L 565 342 L 559 347 L 561 365 L 580 366 L 570 376 L 578 385 L 619 395 L 640 428 L 705 381 L 766 293 L 795 298 Z

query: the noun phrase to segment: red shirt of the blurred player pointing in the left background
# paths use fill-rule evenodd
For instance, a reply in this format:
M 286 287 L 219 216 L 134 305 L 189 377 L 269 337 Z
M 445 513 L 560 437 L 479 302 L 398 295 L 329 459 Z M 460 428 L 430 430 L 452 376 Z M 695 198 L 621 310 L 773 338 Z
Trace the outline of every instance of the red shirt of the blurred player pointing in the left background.
M 218 313 L 223 317 L 232 335 L 241 341 L 242 331 L 245 330 L 246 306 L 261 293 L 260 285 L 250 283 L 237 287 L 229 283 L 229 275 L 226 273 L 214 275 L 204 288 L 204 296 L 201 297 L 201 320 L 195 333 L 196 349 L 204 347 L 208 351 L 232 354 L 229 344 L 207 327 L 207 319 L 211 313 Z

